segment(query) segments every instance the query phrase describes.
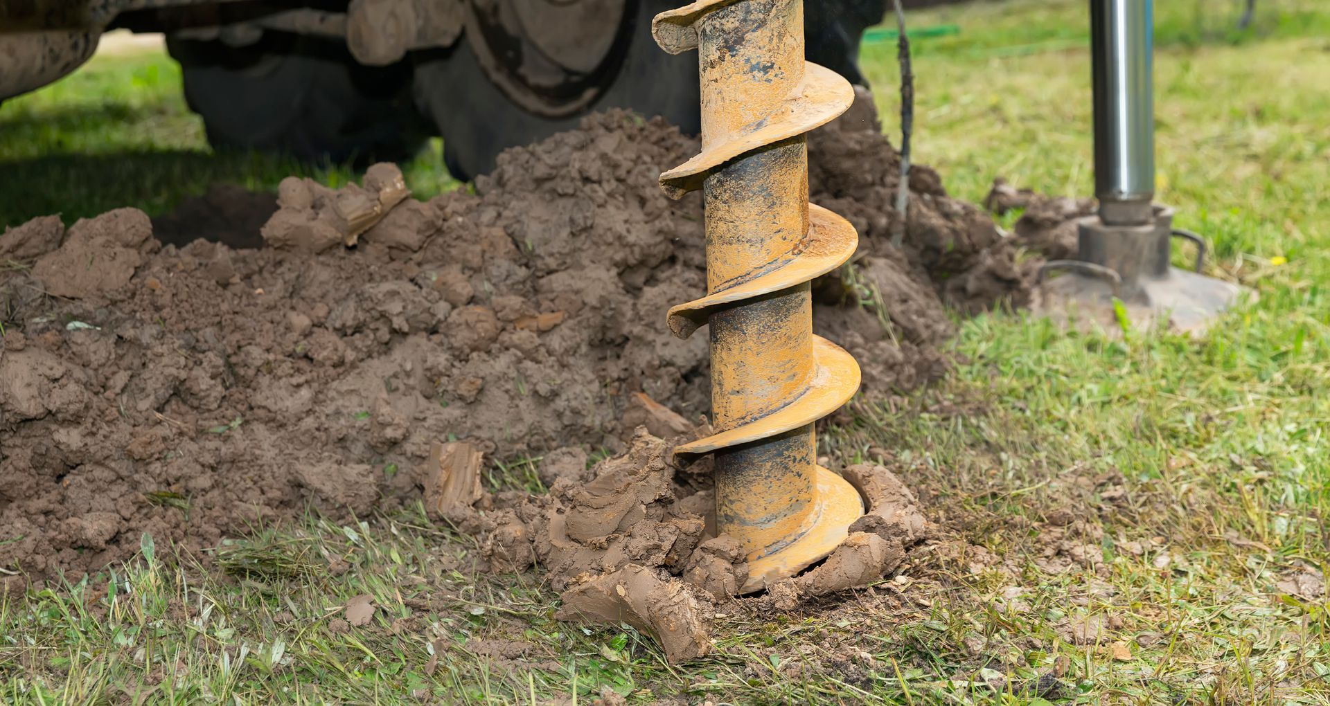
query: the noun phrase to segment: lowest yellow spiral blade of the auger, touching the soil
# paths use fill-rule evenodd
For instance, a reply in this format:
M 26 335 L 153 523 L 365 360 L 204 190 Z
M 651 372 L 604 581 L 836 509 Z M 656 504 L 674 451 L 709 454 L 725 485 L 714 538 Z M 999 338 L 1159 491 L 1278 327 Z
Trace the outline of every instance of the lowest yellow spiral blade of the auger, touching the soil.
M 850 536 L 850 525 L 863 517 L 863 499 L 850 481 L 818 467 L 813 525 L 789 546 L 749 560 L 749 580 L 739 593 L 753 593 L 822 561 Z

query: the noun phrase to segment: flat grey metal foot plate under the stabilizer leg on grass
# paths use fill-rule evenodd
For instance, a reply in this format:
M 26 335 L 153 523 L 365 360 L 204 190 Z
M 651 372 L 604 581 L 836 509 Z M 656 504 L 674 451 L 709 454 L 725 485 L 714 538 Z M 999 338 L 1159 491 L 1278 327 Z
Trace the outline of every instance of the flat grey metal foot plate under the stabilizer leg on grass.
M 1154 324 L 1185 334 L 1201 334 L 1250 290 L 1197 273 L 1169 269 L 1169 275 L 1140 282 L 1142 291 L 1128 298 L 1127 314 L 1133 327 Z M 1112 285 L 1077 273 L 1044 282 L 1035 290 L 1031 308 L 1063 324 L 1075 319 L 1105 330 L 1119 330 Z

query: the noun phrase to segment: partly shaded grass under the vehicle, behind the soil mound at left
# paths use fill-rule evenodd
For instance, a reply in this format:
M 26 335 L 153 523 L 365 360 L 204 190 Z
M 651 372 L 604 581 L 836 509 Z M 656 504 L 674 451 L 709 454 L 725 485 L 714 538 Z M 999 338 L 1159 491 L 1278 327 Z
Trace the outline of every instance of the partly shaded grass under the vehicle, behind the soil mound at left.
M 431 141 L 403 172 L 420 198 L 454 189 Z M 275 190 L 290 174 L 336 186 L 346 165 L 273 154 L 213 153 L 189 110 L 180 65 L 165 52 L 96 56 L 80 70 L 0 105 L 0 226 L 63 214 L 66 223 L 125 205 L 149 215 L 214 182 Z

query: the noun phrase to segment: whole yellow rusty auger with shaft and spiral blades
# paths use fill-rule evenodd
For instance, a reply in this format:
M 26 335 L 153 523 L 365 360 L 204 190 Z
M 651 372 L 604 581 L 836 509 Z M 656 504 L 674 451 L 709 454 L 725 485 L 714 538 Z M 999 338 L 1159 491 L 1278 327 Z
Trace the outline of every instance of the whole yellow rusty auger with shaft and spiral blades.
M 717 432 L 676 449 L 713 453 L 717 529 L 746 549 L 743 592 L 826 557 L 863 513 L 817 465 L 814 423 L 849 402 L 859 367 L 813 335 L 813 278 L 858 245 L 843 218 L 809 205 L 806 133 L 843 113 L 849 81 L 805 60 L 803 0 L 704 0 L 661 13 L 657 43 L 698 51 L 702 150 L 661 176 L 673 198 L 702 190 L 708 295 L 669 326 L 712 342 Z

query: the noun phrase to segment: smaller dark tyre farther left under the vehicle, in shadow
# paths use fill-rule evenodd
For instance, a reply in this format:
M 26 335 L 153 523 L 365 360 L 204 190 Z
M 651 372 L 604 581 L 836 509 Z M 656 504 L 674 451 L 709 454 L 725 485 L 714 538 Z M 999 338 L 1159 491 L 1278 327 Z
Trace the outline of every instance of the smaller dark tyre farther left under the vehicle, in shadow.
M 246 47 L 178 37 L 166 47 L 214 149 L 364 165 L 410 158 L 427 138 L 410 64 L 364 66 L 343 44 L 281 32 Z

